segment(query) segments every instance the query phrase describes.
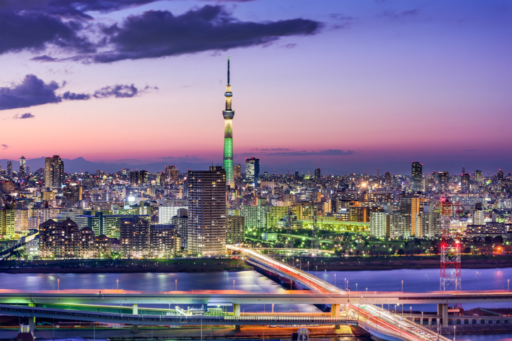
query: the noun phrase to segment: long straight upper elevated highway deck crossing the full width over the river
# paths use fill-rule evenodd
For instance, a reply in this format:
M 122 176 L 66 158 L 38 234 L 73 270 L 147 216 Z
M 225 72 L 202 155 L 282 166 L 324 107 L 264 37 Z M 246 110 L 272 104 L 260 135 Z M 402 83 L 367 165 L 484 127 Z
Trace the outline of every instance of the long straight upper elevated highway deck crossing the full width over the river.
M 292 293 L 72 293 L 51 290 L 45 293 L 2 292 L 0 304 L 451 304 L 512 302 L 506 292 L 328 292 L 315 293 L 294 290 Z

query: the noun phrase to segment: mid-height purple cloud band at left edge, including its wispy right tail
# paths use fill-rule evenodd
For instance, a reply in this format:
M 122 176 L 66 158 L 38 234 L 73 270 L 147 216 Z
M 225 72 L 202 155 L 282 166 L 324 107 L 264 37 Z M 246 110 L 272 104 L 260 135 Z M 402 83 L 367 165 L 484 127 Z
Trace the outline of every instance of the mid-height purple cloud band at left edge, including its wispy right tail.
M 66 82 L 63 82 L 64 86 Z M 91 98 L 106 98 L 117 97 L 126 98 L 141 95 L 148 90 L 156 89 L 156 87 L 146 86 L 137 88 L 134 84 L 124 85 L 116 84 L 112 86 L 105 86 L 96 90 L 91 94 L 76 94 L 72 92 L 65 92 L 62 95 L 56 94 L 56 90 L 60 86 L 55 81 L 45 83 L 43 80 L 34 75 L 25 76 L 24 80 L 19 84 L 13 84 L 11 87 L 0 87 L 0 110 L 27 108 L 34 105 L 41 105 L 47 103 L 59 103 L 62 100 L 76 101 L 76 100 L 89 100 Z M 33 115 L 29 112 L 15 119 L 32 118 Z

